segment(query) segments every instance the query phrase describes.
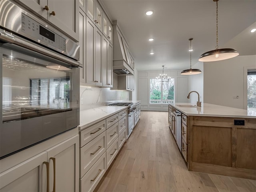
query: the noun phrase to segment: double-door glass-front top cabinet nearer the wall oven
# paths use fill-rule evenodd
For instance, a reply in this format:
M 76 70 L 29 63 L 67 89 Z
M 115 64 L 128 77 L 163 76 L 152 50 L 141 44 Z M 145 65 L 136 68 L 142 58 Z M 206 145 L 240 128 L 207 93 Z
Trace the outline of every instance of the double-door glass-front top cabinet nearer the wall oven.
M 86 1 L 86 15 L 95 23 L 102 32 L 103 9 L 97 0 Z

